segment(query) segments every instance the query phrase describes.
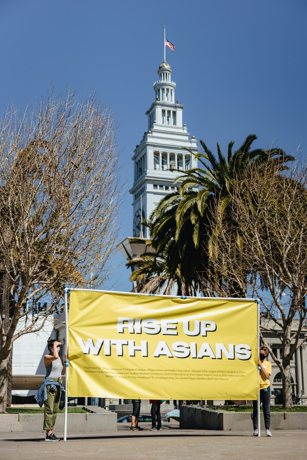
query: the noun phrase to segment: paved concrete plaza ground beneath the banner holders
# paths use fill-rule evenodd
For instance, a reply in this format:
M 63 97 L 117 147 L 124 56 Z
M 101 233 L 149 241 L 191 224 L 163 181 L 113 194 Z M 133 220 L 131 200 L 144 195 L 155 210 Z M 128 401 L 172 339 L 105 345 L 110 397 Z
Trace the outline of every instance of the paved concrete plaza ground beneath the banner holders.
M 130 431 L 119 423 L 116 432 L 72 432 L 67 442 L 45 443 L 44 433 L 0 433 L 1 460 L 28 459 L 229 459 L 305 460 L 307 431 L 273 431 L 272 437 L 253 437 L 248 431 L 180 430 L 163 423 L 162 431 Z M 251 428 L 251 427 L 250 427 Z M 56 433 L 62 437 L 62 433 Z

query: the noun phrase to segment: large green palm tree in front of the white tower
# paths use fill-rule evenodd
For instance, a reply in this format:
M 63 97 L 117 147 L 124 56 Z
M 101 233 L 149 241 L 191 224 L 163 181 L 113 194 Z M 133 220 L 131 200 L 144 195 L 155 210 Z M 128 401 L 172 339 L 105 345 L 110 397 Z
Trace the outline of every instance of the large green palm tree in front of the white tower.
M 218 224 L 213 225 L 212 230 L 212 210 L 217 207 L 220 217 L 227 213 L 234 180 L 252 170 L 252 167 L 261 168 L 268 163 L 278 163 L 282 169 L 284 163 L 294 159 L 280 149 L 251 150 L 256 138 L 255 134 L 249 135 L 234 152 L 234 142 L 231 141 L 228 144 L 227 159 L 219 144 L 216 159 L 200 140 L 204 153 L 195 156 L 201 167 L 185 172 L 172 169 L 180 173 L 174 181 L 179 184 L 179 189 L 160 201 L 148 223 L 151 246 L 156 250 L 153 259 L 163 260 L 167 269 L 164 266 L 163 272 L 159 272 L 156 266 L 156 271 L 151 271 L 151 277 L 154 274 L 160 276 L 162 273 L 164 276 L 167 273 L 173 276 L 178 269 L 184 294 L 197 289 L 206 292 L 207 276 L 210 270 L 214 270 L 214 253 L 219 235 Z M 185 150 L 192 154 L 191 150 Z M 148 265 L 143 265 L 143 276 L 146 268 L 150 269 Z

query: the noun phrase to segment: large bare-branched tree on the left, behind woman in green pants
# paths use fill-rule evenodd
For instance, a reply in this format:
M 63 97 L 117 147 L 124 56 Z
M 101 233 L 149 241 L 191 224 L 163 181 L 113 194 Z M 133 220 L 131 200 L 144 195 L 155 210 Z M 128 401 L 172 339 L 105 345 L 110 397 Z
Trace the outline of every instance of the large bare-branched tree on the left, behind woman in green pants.
M 116 121 L 94 94 L 48 98 L 0 121 L 0 412 L 13 341 L 63 305 L 63 284 L 108 277 L 121 186 Z M 38 308 L 43 304 L 42 308 Z M 26 319 L 17 332 L 17 322 Z

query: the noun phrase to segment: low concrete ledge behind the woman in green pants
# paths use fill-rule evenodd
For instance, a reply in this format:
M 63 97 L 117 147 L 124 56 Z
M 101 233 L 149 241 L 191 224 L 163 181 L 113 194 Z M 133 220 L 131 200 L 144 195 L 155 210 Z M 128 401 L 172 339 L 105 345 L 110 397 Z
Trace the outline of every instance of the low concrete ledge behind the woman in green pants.
M 44 414 L 0 414 L 0 432 L 43 431 Z M 64 414 L 58 414 L 54 426 L 57 432 L 64 431 Z M 67 431 L 116 431 L 115 412 L 104 414 L 67 414 Z

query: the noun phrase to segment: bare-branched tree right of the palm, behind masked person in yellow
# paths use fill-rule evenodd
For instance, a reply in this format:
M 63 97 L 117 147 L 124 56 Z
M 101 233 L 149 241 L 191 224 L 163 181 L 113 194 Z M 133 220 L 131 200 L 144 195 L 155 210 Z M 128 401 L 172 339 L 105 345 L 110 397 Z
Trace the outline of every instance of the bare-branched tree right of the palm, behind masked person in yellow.
M 297 161 L 284 171 L 278 162 L 254 167 L 235 182 L 230 215 L 214 214 L 220 233 L 204 287 L 221 296 L 261 299 L 261 340 L 266 331 L 283 348 L 279 361 L 268 346 L 282 375 L 285 408 L 293 407 L 290 359 L 307 340 L 306 213 L 306 166 Z

